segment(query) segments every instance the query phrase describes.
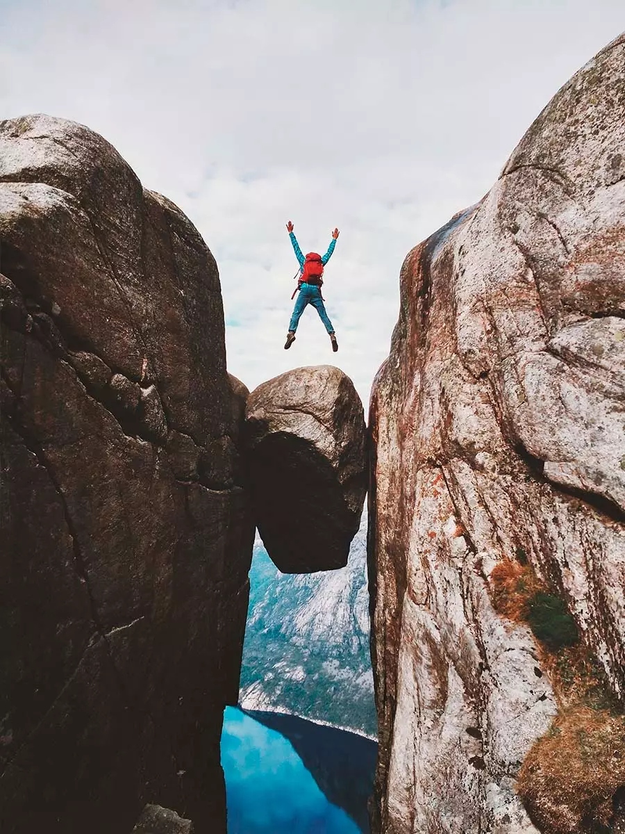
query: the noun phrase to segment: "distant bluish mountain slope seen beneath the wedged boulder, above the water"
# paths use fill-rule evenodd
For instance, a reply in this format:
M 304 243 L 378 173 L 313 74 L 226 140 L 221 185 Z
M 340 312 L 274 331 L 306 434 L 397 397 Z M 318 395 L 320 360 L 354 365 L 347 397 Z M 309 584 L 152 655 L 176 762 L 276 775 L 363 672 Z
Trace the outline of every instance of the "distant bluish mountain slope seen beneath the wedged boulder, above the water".
M 367 519 L 340 570 L 286 575 L 254 545 L 240 702 L 375 735 Z

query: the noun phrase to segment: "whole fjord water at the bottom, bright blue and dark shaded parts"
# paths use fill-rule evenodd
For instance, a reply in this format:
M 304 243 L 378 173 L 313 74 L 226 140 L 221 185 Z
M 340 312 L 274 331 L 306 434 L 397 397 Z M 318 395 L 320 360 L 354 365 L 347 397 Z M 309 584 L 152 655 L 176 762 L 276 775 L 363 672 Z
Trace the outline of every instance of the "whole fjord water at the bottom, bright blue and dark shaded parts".
M 263 717 L 261 713 L 258 715 Z M 288 735 L 295 745 L 306 740 L 304 757 L 312 771 L 282 732 L 233 707 L 227 707 L 224 713 L 222 766 L 228 798 L 228 834 L 362 834 L 368 831 L 367 791 L 363 794 L 362 780 L 358 780 L 360 785 L 354 785 L 356 780 L 349 768 L 334 765 L 332 751 L 324 741 L 327 733 L 323 731 L 329 729 L 338 734 L 333 746 L 342 751 L 339 759 L 358 761 L 361 767 L 363 742 L 372 746 L 367 782 L 373 781 L 375 743 L 353 733 L 318 726 L 294 716 L 285 717 L 289 719 L 285 725 Z M 316 755 L 311 756 L 309 751 L 315 748 L 317 731 L 322 741 L 316 747 Z M 337 804 L 328 799 L 319 783 Z M 339 804 L 348 808 L 359 824 Z

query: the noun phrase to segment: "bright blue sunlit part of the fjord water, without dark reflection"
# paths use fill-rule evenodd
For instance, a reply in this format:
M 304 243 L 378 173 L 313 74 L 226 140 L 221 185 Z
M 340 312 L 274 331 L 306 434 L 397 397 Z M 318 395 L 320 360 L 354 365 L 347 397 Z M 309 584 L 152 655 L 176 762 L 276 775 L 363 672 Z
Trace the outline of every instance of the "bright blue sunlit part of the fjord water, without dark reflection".
M 224 713 L 222 766 L 228 834 L 360 834 L 291 742 L 233 707 Z

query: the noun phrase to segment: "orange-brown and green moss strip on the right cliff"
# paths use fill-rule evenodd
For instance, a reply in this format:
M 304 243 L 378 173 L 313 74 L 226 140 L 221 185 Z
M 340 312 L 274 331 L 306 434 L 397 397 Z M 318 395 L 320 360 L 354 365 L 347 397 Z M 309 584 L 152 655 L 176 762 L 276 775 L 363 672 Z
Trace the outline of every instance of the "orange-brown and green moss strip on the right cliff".
M 517 793 L 543 834 L 612 831 L 612 797 L 625 786 L 625 716 L 566 603 L 523 556 L 494 568 L 491 599 L 532 629 L 559 712 L 523 761 Z

